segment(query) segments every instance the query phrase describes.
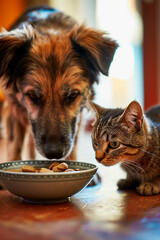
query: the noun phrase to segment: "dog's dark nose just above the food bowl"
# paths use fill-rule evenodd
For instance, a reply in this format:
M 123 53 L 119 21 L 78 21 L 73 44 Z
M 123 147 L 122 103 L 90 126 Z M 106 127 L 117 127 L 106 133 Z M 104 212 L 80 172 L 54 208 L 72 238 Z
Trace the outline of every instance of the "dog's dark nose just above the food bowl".
M 63 149 L 58 146 L 53 146 L 51 144 L 45 144 L 43 152 L 48 159 L 60 159 L 63 157 Z

